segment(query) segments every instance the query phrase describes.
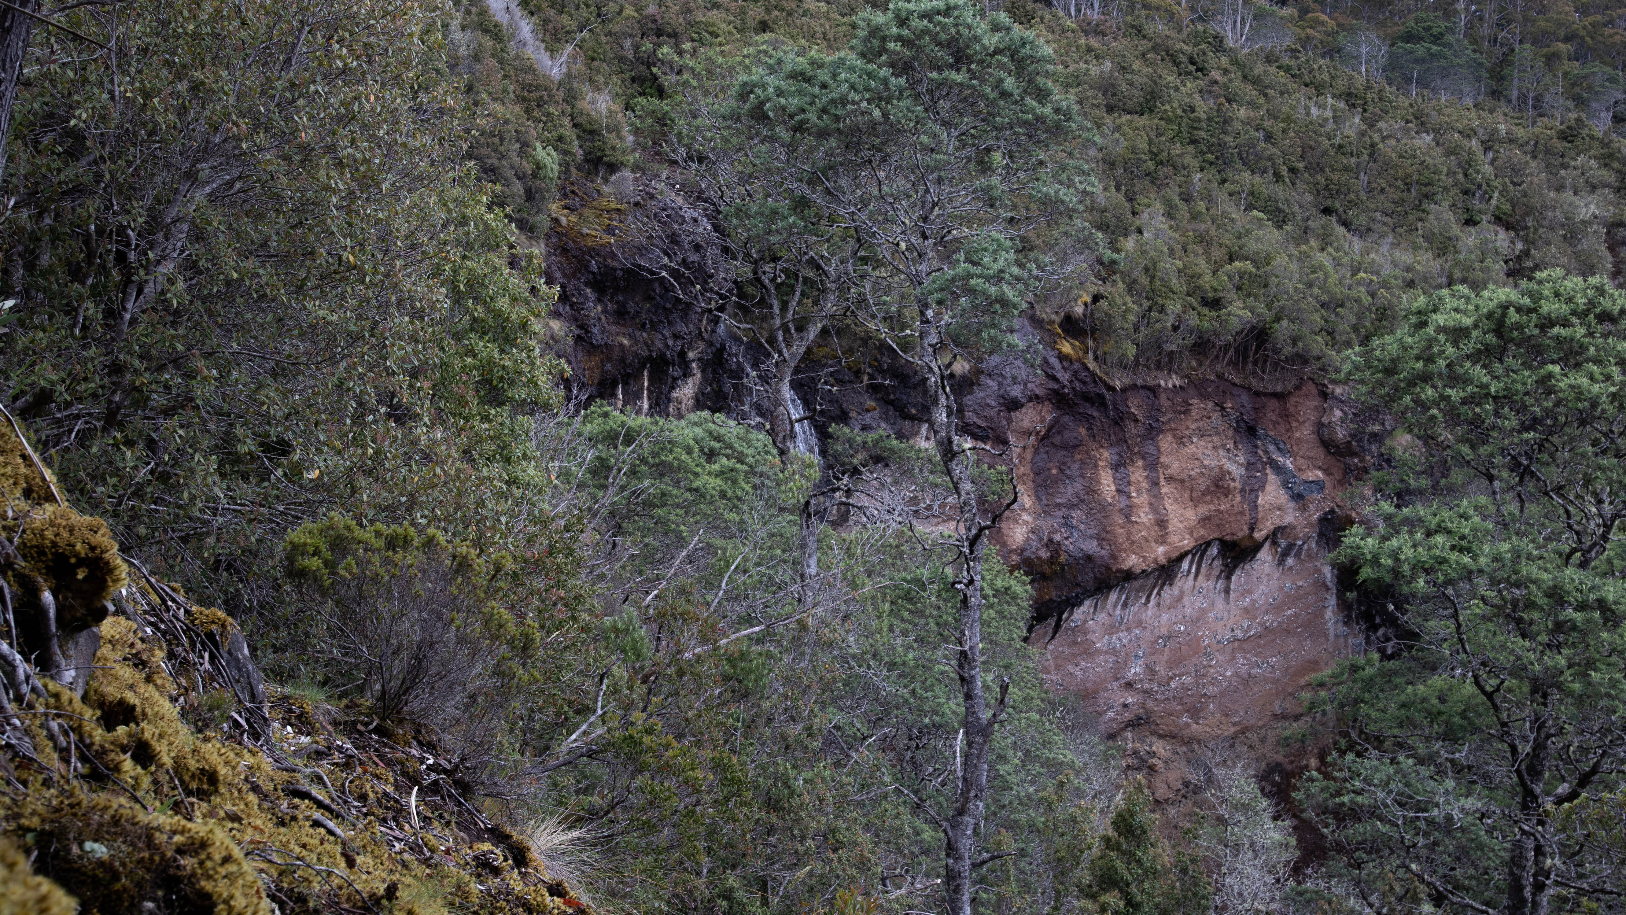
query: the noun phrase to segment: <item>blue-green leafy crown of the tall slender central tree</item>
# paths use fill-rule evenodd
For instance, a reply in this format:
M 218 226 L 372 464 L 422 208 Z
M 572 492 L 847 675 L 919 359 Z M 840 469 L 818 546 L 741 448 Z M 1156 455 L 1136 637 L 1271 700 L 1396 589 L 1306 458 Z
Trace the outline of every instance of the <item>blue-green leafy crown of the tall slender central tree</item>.
M 813 219 L 865 247 L 862 273 L 883 289 L 860 304 L 873 322 L 946 335 L 922 348 L 1005 346 L 1036 280 L 1018 239 L 1091 189 L 1067 156 L 1083 128 L 1050 49 L 956 0 L 893 3 L 854 26 L 844 54 L 767 55 L 743 75 L 738 119 Z M 954 203 L 899 206 L 922 182 Z

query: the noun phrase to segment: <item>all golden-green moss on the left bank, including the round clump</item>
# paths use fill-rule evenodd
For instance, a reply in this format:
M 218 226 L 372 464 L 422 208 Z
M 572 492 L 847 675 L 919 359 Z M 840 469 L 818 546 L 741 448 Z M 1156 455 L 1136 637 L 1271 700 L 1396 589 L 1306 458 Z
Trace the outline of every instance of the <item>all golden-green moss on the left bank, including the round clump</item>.
M 24 718 L 34 757 L 52 775 L 23 765 L 26 791 L 0 791 L 0 915 L 112 915 L 140 912 L 146 902 L 177 915 L 268 915 L 267 886 L 293 907 L 285 908 L 289 915 L 333 904 L 390 915 L 446 915 L 449 904 L 491 915 L 564 910 L 556 899 L 563 887 L 525 886 L 537 878 L 522 878 L 498 847 L 460 848 L 452 817 L 423 801 L 424 827 L 452 837 L 431 842 L 446 865 L 426 871 L 410 852 L 392 852 L 379 821 L 364 811 L 345 824 L 348 839 L 340 842 L 312 822 L 307 800 L 285 790 L 306 782 L 301 774 L 273 769 L 252 746 L 192 728 L 177 709 L 200 699 L 187 694 L 190 674 L 177 684 L 164 670 L 163 642 L 133 621 L 102 621 L 106 601 L 128 583 L 107 525 L 57 505 L 49 476 L 3 421 L 0 504 L 24 517 L 18 540 L 24 569 L 15 575 L 24 596 L 20 611 L 31 609 L 28 598 L 42 585 L 55 595 L 65 629 L 101 622 L 85 696 L 47 679 L 47 699 L 31 709 L 42 713 Z M 150 593 L 145 583 L 140 588 Z M 236 626 L 215 608 L 192 606 L 187 619 L 207 632 Z M 81 772 L 72 778 L 44 730 L 47 715 L 75 736 Z M 309 705 L 294 718 L 335 736 Z M 89 765 L 86 754 L 94 759 Z M 340 764 L 328 774 L 338 782 L 346 770 Z M 398 808 L 405 791 L 389 767 L 356 765 L 348 774 L 341 783 L 361 804 Z M 306 787 L 324 790 L 317 780 Z M 389 817 L 400 826 L 398 809 Z

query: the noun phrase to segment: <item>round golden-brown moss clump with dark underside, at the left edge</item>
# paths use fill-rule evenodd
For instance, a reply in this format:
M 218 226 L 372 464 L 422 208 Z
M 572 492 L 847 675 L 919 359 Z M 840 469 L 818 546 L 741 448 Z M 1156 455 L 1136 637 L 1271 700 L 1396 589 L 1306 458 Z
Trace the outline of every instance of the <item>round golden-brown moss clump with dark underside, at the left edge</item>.
M 93 614 L 130 580 L 107 523 L 73 509 L 36 509 L 23 523 L 16 549 L 26 570 L 55 595 L 63 614 Z M 98 621 L 99 618 L 88 622 Z M 59 622 L 68 627 L 75 621 L 63 616 Z

